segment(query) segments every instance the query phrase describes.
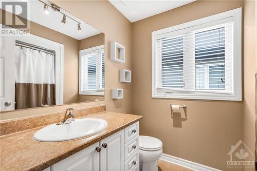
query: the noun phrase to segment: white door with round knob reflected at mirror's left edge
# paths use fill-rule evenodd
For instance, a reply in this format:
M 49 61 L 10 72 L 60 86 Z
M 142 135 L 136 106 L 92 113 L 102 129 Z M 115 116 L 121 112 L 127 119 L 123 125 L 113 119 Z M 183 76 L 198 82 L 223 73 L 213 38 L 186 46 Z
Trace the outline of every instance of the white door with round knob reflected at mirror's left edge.
M 14 110 L 15 37 L 0 36 L 0 110 Z

